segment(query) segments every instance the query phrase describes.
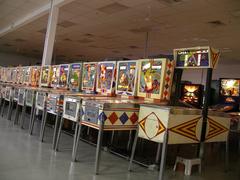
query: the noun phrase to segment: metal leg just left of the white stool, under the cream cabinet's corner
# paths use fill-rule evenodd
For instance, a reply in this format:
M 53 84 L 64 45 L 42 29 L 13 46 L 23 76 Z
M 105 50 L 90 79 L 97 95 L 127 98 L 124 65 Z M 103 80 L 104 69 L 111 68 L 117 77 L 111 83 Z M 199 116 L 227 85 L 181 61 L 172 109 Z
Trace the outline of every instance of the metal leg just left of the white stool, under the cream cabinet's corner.
M 164 177 L 164 170 L 165 170 L 166 156 L 167 156 L 168 131 L 166 131 L 163 138 L 164 139 L 163 139 L 160 170 L 159 170 L 159 180 L 163 180 L 163 177 Z

